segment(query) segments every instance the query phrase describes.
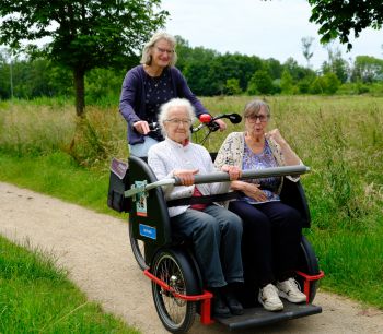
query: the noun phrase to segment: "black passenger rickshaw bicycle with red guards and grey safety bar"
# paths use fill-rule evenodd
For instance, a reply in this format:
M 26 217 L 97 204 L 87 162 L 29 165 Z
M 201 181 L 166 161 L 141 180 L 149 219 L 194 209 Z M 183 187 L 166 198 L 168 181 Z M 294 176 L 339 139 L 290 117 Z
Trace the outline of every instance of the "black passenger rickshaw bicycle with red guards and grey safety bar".
M 201 117 L 201 123 L 193 132 L 206 128 L 207 134 L 218 130 L 214 120 L 227 118 L 233 123 L 241 121 L 237 114 Z M 151 124 L 153 131 L 156 126 Z M 216 154 L 211 154 L 212 159 Z M 302 175 L 310 170 L 306 166 L 286 166 L 262 170 L 245 170 L 241 179 L 270 176 Z M 214 172 L 195 177 L 195 184 L 229 181 L 225 172 Z M 167 208 L 177 205 L 222 202 L 234 199 L 236 192 L 206 195 L 200 198 L 165 201 L 162 186 L 179 186 L 177 178 L 158 180 L 144 158 L 130 156 L 128 164 L 113 159 L 108 206 L 118 212 L 129 213 L 129 239 L 135 259 L 143 274 L 152 281 L 152 296 L 156 312 L 164 327 L 171 333 L 185 333 L 193 325 L 196 314 L 202 324 L 214 321 L 230 330 L 255 327 L 275 322 L 306 317 L 322 312 L 312 302 L 316 295 L 318 279 L 324 276 L 318 269 L 315 252 L 303 236 L 297 266 L 297 281 L 306 295 L 306 303 L 294 305 L 283 300 L 283 310 L 269 312 L 255 300 L 255 286 L 246 285 L 244 295 L 254 295 L 253 303 L 245 305 L 242 315 L 231 318 L 211 317 L 210 306 L 213 295 L 204 288 L 201 273 L 193 254 L 193 247 L 185 240 L 172 237 Z M 310 227 L 311 217 L 303 188 L 300 182 L 285 178 L 281 201 L 295 207 L 303 217 L 303 227 Z

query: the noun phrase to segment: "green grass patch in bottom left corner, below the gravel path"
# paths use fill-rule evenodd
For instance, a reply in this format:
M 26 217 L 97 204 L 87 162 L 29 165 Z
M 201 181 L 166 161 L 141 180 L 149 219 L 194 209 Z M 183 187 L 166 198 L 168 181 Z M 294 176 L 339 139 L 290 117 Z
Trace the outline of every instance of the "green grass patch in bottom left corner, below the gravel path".
M 51 254 L 0 236 L 0 333 L 139 333 L 103 312 Z

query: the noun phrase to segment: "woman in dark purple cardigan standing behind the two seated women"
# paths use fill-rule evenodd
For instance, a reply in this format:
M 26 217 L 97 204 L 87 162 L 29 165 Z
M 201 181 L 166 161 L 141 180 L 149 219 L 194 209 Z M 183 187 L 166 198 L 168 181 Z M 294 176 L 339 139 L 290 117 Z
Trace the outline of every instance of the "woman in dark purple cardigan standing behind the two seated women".
M 147 156 L 151 145 L 162 141 L 161 133 L 149 123 L 158 121 L 161 105 L 174 97 L 186 98 L 197 117 L 209 114 L 188 87 L 175 62 L 176 40 L 172 35 L 155 33 L 142 50 L 141 64 L 128 71 L 123 83 L 119 110 L 128 123 L 130 154 Z M 227 128 L 217 120 L 221 130 Z

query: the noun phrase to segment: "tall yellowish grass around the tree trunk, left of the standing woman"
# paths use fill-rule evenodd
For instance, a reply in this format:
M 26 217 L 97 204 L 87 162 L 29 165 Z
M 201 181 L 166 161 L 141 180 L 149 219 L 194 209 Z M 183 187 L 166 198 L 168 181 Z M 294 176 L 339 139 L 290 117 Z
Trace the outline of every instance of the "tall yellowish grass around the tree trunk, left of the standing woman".
M 65 152 L 79 165 L 104 166 L 127 156 L 126 126 L 116 108 L 89 107 L 77 118 L 70 102 L 0 104 L 0 150 L 18 156 Z

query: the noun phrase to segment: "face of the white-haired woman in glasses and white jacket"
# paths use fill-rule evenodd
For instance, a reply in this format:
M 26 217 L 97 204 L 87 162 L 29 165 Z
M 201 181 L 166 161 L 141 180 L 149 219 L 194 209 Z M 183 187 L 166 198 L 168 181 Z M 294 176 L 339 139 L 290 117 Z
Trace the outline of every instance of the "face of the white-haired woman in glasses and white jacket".
M 186 107 L 172 107 L 164 121 L 166 135 L 179 144 L 183 144 L 190 134 L 192 119 Z

